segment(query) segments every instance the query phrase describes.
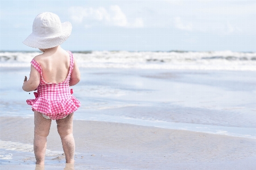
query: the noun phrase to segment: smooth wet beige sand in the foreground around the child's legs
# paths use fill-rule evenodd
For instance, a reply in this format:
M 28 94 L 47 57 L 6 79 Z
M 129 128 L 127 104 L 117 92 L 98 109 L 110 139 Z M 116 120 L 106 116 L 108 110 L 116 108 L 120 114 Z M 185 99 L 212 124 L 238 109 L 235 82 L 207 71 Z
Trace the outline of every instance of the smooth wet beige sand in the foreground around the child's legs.
M 0 117 L 0 127 L 2 141 L 32 145 L 33 118 Z M 256 166 L 256 139 L 80 120 L 74 120 L 74 137 L 76 153 L 87 155 L 76 158 L 77 169 L 89 164 L 88 169 L 94 169 L 93 165 L 95 169 L 254 169 Z M 63 152 L 55 121 L 47 142 L 48 150 Z M 64 158 L 57 159 L 65 162 Z M 2 165 L 6 169 L 19 166 Z

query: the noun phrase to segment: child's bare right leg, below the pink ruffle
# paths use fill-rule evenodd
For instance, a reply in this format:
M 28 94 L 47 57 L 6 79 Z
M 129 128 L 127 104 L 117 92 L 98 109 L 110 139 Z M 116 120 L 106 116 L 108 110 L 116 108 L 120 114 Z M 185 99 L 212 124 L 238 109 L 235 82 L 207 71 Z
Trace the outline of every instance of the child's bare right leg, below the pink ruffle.
M 73 137 L 73 113 L 56 120 L 57 130 L 61 138 L 66 163 L 74 163 L 75 140 Z

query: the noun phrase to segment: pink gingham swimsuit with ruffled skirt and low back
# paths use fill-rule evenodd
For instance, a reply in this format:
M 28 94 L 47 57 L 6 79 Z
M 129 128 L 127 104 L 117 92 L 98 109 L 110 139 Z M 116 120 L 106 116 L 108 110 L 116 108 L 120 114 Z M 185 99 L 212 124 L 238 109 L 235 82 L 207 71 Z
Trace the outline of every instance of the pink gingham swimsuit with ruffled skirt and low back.
M 69 79 L 73 70 L 73 55 L 69 52 L 70 66 L 67 78 L 61 83 L 47 83 L 43 79 L 42 67 L 35 59 L 32 59 L 31 65 L 41 75 L 38 92 L 34 92 L 35 99 L 28 99 L 27 104 L 32 105 L 32 111 L 38 111 L 44 117 L 51 120 L 65 118 L 68 114 L 75 112 L 80 106 L 80 101 L 72 95 L 73 90 L 69 87 Z

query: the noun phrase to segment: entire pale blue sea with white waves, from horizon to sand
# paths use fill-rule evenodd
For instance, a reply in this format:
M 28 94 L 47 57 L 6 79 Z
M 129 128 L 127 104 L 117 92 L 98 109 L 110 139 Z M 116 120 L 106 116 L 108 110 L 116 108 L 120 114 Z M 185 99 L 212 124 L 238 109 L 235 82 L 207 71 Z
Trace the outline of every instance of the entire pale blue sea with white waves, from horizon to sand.
M 0 116 L 34 116 L 26 99 L 35 96 L 24 92 L 22 84 L 38 54 L 0 53 Z M 71 87 L 82 104 L 75 120 L 256 138 L 256 53 L 73 54 L 81 71 L 80 83 Z M 3 164 L 21 160 L 8 160 L 10 154 L 22 155 L 19 151 L 1 151 Z M 34 162 L 33 156 L 27 158 L 29 164 Z

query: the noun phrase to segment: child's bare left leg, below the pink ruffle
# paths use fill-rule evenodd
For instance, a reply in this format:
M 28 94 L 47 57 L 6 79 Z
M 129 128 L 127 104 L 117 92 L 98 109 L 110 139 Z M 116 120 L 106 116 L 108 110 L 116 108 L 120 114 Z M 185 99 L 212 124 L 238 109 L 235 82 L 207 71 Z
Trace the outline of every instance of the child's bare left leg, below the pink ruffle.
M 44 164 L 44 156 L 46 155 L 46 137 L 51 127 L 51 119 L 46 119 L 42 113 L 34 111 L 34 152 L 36 164 Z

